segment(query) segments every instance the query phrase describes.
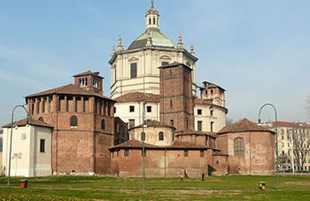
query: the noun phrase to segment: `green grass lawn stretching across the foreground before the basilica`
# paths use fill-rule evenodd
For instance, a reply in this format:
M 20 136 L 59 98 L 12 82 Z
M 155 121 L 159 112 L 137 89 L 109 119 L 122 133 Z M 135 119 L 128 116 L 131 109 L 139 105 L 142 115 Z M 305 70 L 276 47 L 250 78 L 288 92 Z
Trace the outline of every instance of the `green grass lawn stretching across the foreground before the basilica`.
M 6 187 L 0 178 L 0 200 L 310 200 L 310 177 L 211 176 L 198 178 L 141 178 L 100 176 L 52 176 L 28 178 L 29 188 L 17 188 L 21 178 L 12 178 Z M 267 182 L 267 191 L 258 182 Z

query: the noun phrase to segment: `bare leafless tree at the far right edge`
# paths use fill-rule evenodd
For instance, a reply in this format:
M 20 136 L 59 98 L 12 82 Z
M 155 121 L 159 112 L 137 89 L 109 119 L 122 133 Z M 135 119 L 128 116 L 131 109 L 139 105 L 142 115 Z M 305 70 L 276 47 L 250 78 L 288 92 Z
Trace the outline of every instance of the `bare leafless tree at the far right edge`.
M 304 163 L 307 163 L 307 155 L 310 152 L 310 126 L 303 123 L 298 128 L 293 128 L 291 143 L 293 143 L 293 158 L 296 161 L 298 172 L 304 171 Z

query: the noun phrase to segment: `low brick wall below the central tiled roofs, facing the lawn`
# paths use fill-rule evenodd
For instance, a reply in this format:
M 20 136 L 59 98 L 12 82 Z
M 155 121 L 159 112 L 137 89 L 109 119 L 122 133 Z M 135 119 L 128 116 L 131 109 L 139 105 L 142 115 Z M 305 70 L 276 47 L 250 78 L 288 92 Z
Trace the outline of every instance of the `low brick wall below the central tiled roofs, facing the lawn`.
M 130 149 L 130 156 L 124 156 L 124 150 L 113 152 L 112 169 L 119 176 L 141 177 L 143 175 L 142 150 Z M 200 177 L 207 173 L 208 165 L 212 165 L 212 151 L 205 150 L 205 156 L 200 156 L 200 150 L 146 149 L 145 173 L 147 177 L 177 177 L 187 169 L 189 177 Z M 206 174 L 207 175 L 207 174 Z

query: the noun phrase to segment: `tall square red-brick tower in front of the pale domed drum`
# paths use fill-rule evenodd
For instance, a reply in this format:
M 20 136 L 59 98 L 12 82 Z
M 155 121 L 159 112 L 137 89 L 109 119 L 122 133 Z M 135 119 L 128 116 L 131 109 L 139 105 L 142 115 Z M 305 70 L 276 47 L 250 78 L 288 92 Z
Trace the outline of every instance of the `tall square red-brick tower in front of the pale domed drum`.
M 177 132 L 194 130 L 192 69 L 179 62 L 159 69 L 161 122 L 174 126 Z

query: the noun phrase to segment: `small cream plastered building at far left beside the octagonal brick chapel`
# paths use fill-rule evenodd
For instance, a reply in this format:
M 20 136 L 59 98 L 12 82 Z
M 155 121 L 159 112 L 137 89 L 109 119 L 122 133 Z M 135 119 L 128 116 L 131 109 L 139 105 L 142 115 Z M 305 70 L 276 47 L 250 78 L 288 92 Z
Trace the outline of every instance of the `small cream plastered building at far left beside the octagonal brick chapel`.
M 3 126 L 3 169 L 6 176 L 50 176 L 52 174 L 52 127 L 43 121 L 22 119 Z M 10 141 L 12 129 L 12 151 Z M 9 165 L 10 164 L 10 165 Z M 10 168 L 9 168 L 10 167 Z

